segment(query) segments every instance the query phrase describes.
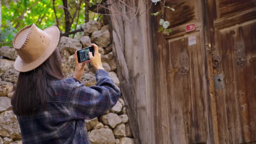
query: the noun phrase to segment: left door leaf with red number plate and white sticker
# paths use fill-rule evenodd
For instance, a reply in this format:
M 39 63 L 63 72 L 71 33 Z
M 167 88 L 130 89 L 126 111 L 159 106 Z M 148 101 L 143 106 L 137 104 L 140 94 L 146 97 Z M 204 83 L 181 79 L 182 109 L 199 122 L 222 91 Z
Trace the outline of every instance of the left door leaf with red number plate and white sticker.
M 200 0 L 166 0 L 154 7 L 154 126 L 155 144 L 210 144 L 207 60 Z M 171 23 L 172 33 L 158 33 L 159 20 Z M 195 30 L 186 32 L 188 24 Z

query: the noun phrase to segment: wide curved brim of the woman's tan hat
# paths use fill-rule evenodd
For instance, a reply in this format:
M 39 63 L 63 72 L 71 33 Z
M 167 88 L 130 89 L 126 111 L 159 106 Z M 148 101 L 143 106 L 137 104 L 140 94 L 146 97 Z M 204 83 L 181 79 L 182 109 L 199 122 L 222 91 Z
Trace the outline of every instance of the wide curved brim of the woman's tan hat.
M 56 26 L 50 26 L 46 29 L 43 29 L 43 31 L 49 34 L 50 38 L 47 49 L 45 49 L 41 56 L 30 63 L 24 62 L 20 56 L 17 56 L 14 62 L 14 69 L 19 72 L 29 72 L 39 67 L 39 65 L 45 62 L 46 59 L 48 59 L 53 54 L 59 43 L 59 29 Z

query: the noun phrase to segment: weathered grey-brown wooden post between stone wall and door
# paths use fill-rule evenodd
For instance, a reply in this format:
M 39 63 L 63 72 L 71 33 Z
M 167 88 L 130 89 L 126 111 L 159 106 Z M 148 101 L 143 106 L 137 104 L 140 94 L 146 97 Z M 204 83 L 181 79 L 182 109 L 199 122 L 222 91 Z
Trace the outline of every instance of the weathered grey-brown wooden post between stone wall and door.
M 146 12 L 150 3 L 143 0 L 122 0 L 113 3 L 113 0 L 107 0 L 106 4 L 109 9 L 106 13 L 111 14 L 108 20 L 113 28 L 117 72 L 121 81 L 121 93 L 127 104 L 131 129 L 136 144 L 151 144 L 154 142 L 151 82 L 154 70 L 153 54 L 150 50 L 151 16 Z M 121 13 L 117 14 L 117 10 Z

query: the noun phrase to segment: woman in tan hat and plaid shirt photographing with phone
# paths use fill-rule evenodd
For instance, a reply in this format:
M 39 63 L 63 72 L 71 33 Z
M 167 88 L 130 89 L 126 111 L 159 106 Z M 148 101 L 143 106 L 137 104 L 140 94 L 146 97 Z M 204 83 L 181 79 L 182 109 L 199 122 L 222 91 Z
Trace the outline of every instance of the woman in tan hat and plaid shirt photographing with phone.
M 85 119 L 103 115 L 120 97 L 119 88 L 103 69 L 98 46 L 89 53 L 97 69 L 97 84 L 86 87 L 79 80 L 84 71 L 75 53 L 74 76 L 64 79 L 56 46 L 59 29 L 41 30 L 35 24 L 21 29 L 13 40 L 18 53 L 14 68 L 20 71 L 11 98 L 23 144 L 89 144 Z

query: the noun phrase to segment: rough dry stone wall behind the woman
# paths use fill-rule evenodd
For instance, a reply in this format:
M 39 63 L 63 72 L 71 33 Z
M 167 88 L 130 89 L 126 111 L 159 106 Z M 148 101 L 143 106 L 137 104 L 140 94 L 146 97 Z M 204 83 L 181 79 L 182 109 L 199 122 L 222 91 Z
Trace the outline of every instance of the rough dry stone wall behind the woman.
M 112 52 L 109 29 L 109 25 L 101 27 L 98 22 L 90 21 L 85 24 L 85 36 L 80 39 L 60 39 L 58 49 L 62 55 L 62 71 L 66 77 L 72 77 L 75 70 L 75 50 L 95 43 L 99 46 L 104 69 L 108 71 L 114 83 L 120 85 L 115 72 L 115 56 Z M 13 68 L 16 57 L 15 49 L 9 46 L 0 48 L 0 144 L 22 144 L 20 126 L 10 104 L 19 75 Z M 86 86 L 95 85 L 94 73 L 95 69 L 87 63 L 81 82 Z M 122 98 L 119 98 L 117 104 L 106 114 L 85 122 L 91 144 L 135 144 Z

